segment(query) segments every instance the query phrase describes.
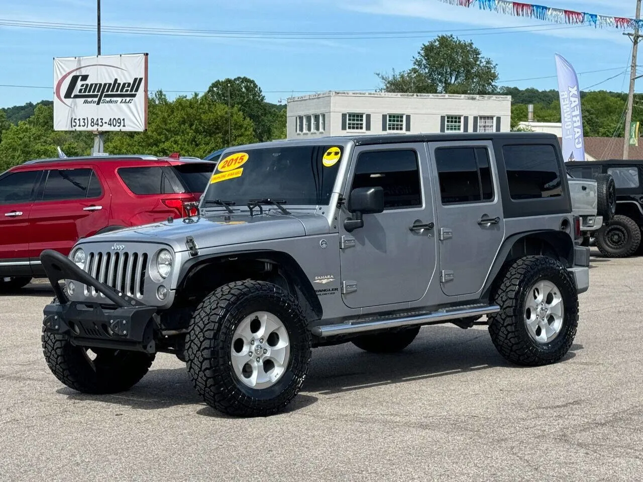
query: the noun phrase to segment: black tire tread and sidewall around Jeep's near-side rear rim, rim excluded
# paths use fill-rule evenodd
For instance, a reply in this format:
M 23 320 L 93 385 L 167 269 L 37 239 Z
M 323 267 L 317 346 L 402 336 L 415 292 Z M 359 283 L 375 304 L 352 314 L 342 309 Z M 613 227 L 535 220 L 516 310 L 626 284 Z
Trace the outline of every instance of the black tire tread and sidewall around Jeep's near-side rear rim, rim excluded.
M 561 332 L 550 343 L 538 343 L 525 323 L 525 303 L 530 288 L 540 280 L 554 283 L 561 292 L 565 313 Z M 491 341 L 510 362 L 525 366 L 552 364 L 565 356 L 574 343 L 578 326 L 578 294 L 565 267 L 548 256 L 525 256 L 505 271 L 493 302 L 500 312 L 489 317 Z

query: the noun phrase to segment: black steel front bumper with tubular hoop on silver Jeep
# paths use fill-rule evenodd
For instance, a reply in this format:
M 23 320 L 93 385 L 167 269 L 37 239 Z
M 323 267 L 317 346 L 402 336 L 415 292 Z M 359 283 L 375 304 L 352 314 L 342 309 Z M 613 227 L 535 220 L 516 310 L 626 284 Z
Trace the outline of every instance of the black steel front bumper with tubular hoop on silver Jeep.
M 59 300 L 59 303 L 44 308 L 46 330 L 66 335 L 71 343 L 78 346 L 147 353 L 156 351 L 154 333 L 158 324 L 154 319 L 155 307 L 143 305 L 96 281 L 57 251 L 43 251 L 40 259 Z M 105 296 L 105 301 L 71 301 L 60 287 L 61 280 L 78 281 L 93 287 Z

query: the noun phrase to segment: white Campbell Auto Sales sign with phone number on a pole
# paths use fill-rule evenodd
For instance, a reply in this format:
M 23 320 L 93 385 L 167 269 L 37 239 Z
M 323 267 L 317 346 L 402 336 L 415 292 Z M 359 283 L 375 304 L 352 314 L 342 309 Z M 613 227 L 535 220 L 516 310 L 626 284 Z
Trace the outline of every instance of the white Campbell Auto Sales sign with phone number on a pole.
M 53 59 L 54 130 L 147 130 L 147 53 Z

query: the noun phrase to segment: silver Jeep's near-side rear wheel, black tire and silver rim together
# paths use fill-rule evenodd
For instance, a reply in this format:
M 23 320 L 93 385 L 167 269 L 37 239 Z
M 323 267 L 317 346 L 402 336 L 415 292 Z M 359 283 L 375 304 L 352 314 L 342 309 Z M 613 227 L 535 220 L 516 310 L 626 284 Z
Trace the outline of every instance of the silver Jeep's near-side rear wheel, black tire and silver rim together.
M 547 256 L 525 256 L 505 272 L 494 294 L 500 312 L 489 334 L 508 361 L 539 366 L 568 352 L 578 326 L 578 295 L 565 267 Z

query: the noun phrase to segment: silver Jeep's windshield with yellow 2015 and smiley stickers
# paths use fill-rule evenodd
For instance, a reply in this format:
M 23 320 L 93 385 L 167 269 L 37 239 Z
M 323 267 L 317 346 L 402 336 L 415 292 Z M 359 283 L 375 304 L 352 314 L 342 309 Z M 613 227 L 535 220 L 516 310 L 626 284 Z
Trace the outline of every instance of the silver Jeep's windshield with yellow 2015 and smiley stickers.
M 274 199 L 290 206 L 331 201 L 343 147 L 288 146 L 226 154 L 215 169 L 204 202 L 245 206 L 251 200 Z

